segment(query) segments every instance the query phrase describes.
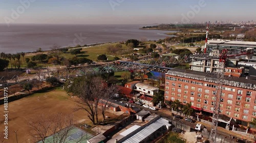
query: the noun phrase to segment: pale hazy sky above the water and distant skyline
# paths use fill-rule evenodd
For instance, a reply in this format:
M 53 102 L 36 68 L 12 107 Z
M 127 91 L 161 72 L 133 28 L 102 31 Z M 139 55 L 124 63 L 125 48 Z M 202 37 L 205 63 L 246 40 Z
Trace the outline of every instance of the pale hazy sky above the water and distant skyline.
M 255 6 L 255 0 L 0 0 L 0 23 L 245 21 L 256 20 Z

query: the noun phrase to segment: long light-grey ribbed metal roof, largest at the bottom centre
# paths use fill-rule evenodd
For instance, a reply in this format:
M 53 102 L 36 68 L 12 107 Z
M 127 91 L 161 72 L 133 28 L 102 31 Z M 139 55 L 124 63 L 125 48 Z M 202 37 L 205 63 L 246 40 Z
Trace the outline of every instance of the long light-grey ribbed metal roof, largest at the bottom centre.
M 130 138 L 127 138 L 126 140 L 124 140 L 123 143 L 140 142 L 143 139 L 145 139 L 146 137 L 153 134 L 155 131 L 157 131 L 159 128 L 161 128 L 164 125 L 171 126 L 168 123 L 168 120 L 160 118 L 157 121 L 155 121 L 154 123 L 152 123 L 152 124 L 146 126 L 145 128 L 141 129 L 139 132 L 137 132 L 136 134 L 134 134 Z

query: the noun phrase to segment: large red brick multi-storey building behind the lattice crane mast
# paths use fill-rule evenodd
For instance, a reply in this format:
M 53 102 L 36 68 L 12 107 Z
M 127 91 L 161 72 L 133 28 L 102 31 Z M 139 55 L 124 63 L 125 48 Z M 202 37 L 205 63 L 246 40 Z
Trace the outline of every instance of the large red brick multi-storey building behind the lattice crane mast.
M 234 76 L 224 79 L 220 114 L 246 126 L 256 118 L 256 80 Z M 216 81 L 215 73 L 169 70 L 165 80 L 165 103 L 174 100 L 183 104 L 191 102 L 194 109 L 212 115 Z

